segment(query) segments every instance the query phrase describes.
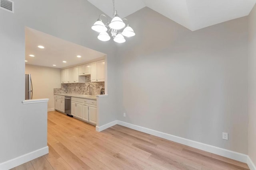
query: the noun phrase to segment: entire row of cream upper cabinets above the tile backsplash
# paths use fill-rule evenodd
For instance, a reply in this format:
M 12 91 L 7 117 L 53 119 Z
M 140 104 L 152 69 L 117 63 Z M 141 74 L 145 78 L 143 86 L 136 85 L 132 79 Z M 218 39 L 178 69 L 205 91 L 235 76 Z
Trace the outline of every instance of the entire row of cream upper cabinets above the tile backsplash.
M 104 82 L 105 60 L 61 70 L 61 83 L 85 83 L 88 75 L 91 75 L 91 82 Z

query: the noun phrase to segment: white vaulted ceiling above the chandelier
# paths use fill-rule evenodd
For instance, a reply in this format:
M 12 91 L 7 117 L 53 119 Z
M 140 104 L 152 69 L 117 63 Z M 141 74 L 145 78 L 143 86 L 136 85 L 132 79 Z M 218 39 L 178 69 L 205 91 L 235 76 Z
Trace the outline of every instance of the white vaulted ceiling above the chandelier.
M 112 18 L 112 0 L 88 0 Z M 256 0 L 115 0 L 121 18 L 145 6 L 195 31 L 204 27 L 247 16 Z M 97 16 L 95 16 L 97 20 Z M 130 21 L 131 23 L 131 21 Z

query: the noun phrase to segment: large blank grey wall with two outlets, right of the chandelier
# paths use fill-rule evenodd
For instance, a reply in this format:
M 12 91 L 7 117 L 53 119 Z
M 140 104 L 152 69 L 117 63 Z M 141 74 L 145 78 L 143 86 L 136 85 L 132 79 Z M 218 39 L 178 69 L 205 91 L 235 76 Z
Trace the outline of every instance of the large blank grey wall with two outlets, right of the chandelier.
M 118 120 L 247 154 L 247 18 L 194 32 L 150 8 L 128 20 L 136 36 L 117 53 Z

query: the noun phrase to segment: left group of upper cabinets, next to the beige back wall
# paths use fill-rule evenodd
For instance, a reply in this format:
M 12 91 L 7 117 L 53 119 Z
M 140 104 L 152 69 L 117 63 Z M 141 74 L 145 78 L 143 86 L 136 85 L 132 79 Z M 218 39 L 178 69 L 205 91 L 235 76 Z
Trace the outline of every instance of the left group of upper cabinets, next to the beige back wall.
M 78 66 L 61 70 L 61 83 L 85 83 L 85 77 L 78 75 Z

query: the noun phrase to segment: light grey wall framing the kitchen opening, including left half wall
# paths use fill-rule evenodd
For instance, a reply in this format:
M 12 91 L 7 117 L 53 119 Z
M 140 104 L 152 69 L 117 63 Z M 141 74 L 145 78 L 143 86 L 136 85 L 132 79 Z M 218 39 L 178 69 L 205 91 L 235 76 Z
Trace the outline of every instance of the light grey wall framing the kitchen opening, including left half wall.
M 105 111 L 108 120 L 116 120 L 115 100 L 115 53 L 114 43 L 101 42 L 91 25 L 97 20 L 100 10 L 86 0 L 14 0 L 15 13 L 0 10 L 0 163 L 24 155 L 45 142 L 40 127 L 34 126 L 35 109 L 22 105 L 24 100 L 25 74 L 25 26 L 58 38 L 101 51 L 108 55 L 108 98 Z M 40 107 L 38 107 L 40 109 Z M 20 118 L 26 119 L 20 119 Z M 37 122 L 37 121 L 35 121 Z M 40 124 L 39 124 L 40 125 Z M 29 131 L 26 131 L 30 129 Z M 38 135 L 34 135 L 34 133 Z M 42 139 L 44 138 L 44 140 Z

